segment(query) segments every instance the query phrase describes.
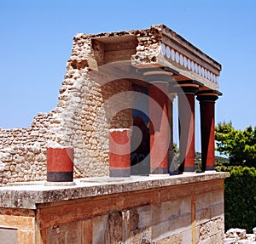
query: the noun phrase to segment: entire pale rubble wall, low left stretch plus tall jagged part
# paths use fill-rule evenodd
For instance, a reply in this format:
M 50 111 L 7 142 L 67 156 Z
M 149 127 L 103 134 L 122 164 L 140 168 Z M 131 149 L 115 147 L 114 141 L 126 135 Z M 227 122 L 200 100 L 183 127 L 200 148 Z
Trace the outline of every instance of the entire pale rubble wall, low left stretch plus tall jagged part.
M 76 178 L 108 175 L 108 129 L 132 125 L 131 80 L 95 77 L 101 45 L 94 50 L 85 34 L 73 40 L 57 107 L 35 116 L 31 128 L 0 128 L 0 184 L 45 179 L 48 146 L 74 148 Z

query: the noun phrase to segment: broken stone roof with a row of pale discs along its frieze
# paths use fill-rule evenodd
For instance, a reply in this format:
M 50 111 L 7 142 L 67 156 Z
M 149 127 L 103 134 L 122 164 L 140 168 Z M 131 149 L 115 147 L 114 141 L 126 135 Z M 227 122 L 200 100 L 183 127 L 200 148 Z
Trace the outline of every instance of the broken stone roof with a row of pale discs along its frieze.
M 151 26 L 149 29 L 116 31 L 97 34 L 78 34 L 74 37 L 90 38 L 102 43 L 107 50 L 111 47 L 125 50 L 135 48 L 131 55 L 131 65 L 137 68 L 166 66 L 178 72 L 177 82 L 195 80 L 205 88 L 219 90 L 218 77 L 222 66 L 209 55 L 196 48 L 185 38 L 165 25 Z M 124 43 L 121 45 L 120 43 Z M 133 44 L 131 44 L 133 43 Z

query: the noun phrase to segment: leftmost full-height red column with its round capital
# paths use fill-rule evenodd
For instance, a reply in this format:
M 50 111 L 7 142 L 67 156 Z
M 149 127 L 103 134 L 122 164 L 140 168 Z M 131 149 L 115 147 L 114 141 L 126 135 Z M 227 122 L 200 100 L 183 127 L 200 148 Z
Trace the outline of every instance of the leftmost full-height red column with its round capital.
M 144 73 L 144 77 L 149 82 L 150 173 L 168 173 L 168 89 L 172 73 L 149 71 Z

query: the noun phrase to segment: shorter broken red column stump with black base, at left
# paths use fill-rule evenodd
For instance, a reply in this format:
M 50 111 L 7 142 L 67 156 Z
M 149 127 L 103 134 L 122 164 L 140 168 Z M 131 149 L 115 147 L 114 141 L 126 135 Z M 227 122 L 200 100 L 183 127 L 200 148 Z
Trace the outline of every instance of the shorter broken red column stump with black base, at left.
M 47 181 L 73 181 L 73 148 L 47 148 Z

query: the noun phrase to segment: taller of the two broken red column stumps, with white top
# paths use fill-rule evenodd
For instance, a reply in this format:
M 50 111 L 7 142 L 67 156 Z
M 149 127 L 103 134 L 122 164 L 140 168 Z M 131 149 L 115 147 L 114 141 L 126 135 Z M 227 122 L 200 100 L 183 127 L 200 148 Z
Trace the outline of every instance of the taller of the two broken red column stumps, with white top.
M 109 130 L 109 176 L 131 175 L 131 130 L 113 128 Z

